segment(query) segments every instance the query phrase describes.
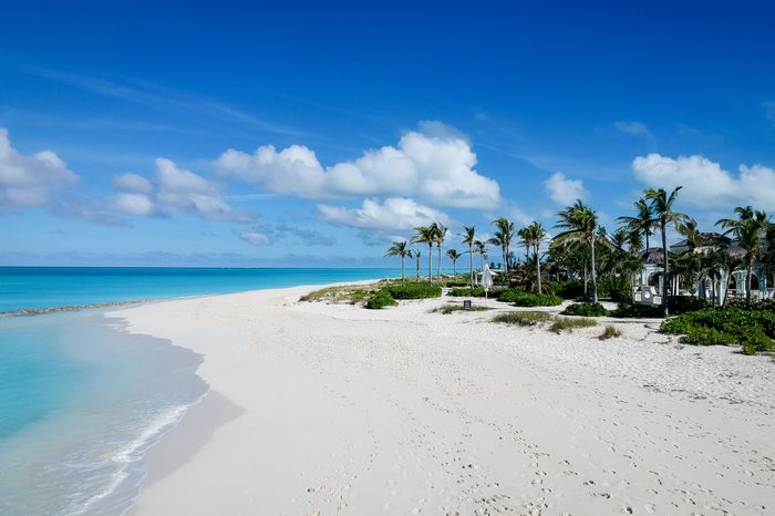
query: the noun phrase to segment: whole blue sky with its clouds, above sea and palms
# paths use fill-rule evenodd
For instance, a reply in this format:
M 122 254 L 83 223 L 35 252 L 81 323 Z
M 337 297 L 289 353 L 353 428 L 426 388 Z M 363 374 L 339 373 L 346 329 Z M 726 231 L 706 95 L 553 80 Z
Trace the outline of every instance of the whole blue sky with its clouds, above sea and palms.
M 0 265 L 394 266 L 645 187 L 775 211 L 772 2 L 199 3 L 3 2 Z

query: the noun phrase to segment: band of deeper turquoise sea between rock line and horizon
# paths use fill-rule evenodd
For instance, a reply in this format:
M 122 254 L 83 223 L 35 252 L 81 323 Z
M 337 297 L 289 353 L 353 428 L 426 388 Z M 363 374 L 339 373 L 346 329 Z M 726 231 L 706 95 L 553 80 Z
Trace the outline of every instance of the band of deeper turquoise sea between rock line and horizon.
M 400 269 L 0 267 L 0 312 L 397 277 Z

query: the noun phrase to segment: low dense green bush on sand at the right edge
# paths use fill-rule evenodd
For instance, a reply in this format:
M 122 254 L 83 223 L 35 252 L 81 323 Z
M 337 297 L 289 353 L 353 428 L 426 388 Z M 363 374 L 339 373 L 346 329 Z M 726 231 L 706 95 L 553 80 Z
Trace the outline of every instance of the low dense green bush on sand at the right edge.
M 775 350 L 775 312 L 768 310 L 705 308 L 664 321 L 661 331 L 683 334 L 684 344 L 740 344 L 745 354 Z

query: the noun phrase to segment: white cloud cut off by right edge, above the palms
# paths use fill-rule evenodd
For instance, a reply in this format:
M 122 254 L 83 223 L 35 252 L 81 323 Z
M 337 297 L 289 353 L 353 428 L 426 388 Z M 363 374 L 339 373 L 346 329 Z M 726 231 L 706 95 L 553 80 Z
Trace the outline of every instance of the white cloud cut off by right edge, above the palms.
M 683 186 L 681 199 L 695 206 L 753 205 L 775 209 L 775 169 L 763 165 L 741 165 L 738 173 L 733 174 L 700 155 L 672 158 L 649 154 L 633 159 L 632 172 L 647 186 Z

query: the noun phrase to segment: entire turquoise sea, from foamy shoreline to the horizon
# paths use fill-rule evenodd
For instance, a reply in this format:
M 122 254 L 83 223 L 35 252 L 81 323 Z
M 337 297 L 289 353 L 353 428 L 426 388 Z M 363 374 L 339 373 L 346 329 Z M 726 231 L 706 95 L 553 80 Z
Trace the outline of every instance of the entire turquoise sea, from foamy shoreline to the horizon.
M 0 268 L 0 311 L 385 276 L 396 270 Z M 207 392 L 202 357 L 104 311 L 0 317 L 0 515 L 122 514 L 144 452 Z

